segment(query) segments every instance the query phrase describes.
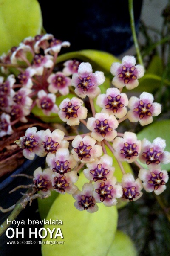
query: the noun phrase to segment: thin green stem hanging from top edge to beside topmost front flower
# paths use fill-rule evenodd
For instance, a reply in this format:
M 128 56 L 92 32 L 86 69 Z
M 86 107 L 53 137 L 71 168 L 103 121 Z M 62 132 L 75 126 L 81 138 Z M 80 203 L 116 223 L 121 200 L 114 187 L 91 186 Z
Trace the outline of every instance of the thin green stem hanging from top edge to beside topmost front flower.
M 129 0 L 129 14 L 130 14 L 130 26 L 131 26 L 131 30 L 132 30 L 133 42 L 134 42 L 134 45 L 135 45 L 135 48 L 136 48 L 137 58 L 138 58 L 139 64 L 144 66 L 143 61 L 142 61 L 142 56 L 141 56 L 141 53 L 140 53 L 140 49 L 139 49 L 138 40 L 137 40 L 137 37 L 136 37 L 134 11 L 133 11 L 133 0 Z

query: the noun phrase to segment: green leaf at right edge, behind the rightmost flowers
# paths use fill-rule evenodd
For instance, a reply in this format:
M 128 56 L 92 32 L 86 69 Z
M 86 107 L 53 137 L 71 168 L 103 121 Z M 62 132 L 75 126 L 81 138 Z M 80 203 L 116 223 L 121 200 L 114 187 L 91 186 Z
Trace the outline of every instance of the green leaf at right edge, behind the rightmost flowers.
M 161 137 L 162 139 L 166 140 L 166 148 L 164 149 L 164 151 L 170 152 L 170 120 L 161 120 L 161 121 L 154 122 L 149 126 L 147 126 L 146 128 L 143 128 L 142 131 L 140 131 L 137 134 L 138 140 L 143 140 L 144 138 L 146 138 L 151 143 L 157 137 Z M 144 168 L 147 167 L 146 164 L 143 164 L 140 161 L 139 163 Z M 162 168 L 166 169 L 167 171 L 170 171 L 170 163 L 162 164 Z

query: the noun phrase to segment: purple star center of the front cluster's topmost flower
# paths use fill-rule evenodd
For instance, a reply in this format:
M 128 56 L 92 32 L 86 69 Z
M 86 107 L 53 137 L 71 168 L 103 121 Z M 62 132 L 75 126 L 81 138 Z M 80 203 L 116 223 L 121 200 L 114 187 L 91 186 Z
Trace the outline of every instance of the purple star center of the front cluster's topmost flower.
M 128 84 L 130 80 L 137 79 L 137 76 L 134 75 L 135 67 L 126 67 L 125 65 L 122 66 L 122 72 L 118 74 L 119 78 L 124 80 L 125 84 Z

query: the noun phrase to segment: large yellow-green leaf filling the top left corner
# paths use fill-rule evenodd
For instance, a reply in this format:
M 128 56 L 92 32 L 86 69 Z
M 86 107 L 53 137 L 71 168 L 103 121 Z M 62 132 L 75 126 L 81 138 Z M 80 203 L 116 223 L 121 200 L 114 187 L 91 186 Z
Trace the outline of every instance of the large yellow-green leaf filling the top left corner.
M 37 0 L 0 0 L 0 55 L 28 36 L 40 34 L 42 13 Z

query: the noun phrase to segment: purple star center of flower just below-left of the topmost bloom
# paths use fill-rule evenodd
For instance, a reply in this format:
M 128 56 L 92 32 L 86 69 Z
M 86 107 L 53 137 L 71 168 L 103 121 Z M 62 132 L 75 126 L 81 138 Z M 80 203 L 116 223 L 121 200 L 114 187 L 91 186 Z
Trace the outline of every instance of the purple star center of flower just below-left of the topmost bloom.
M 117 113 L 119 108 L 123 108 L 124 104 L 120 101 L 121 96 L 118 94 L 116 97 L 112 97 L 111 95 L 108 95 L 107 97 L 108 103 L 105 105 L 105 109 L 110 108 L 113 113 Z

